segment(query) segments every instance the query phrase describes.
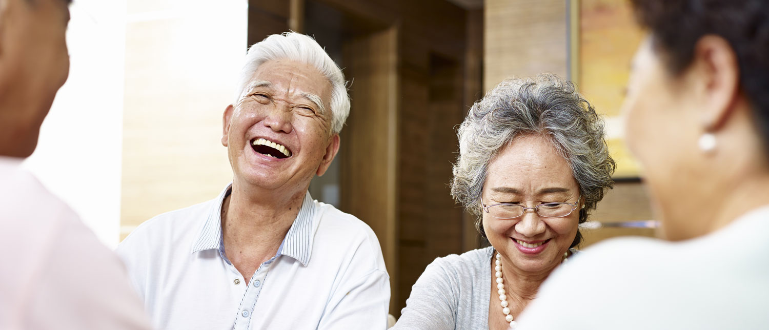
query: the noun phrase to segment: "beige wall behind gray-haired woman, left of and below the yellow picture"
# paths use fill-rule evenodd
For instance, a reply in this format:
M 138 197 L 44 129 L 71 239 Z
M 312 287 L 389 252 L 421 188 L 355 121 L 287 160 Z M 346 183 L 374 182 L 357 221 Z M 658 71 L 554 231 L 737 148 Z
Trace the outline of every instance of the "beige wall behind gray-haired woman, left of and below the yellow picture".
M 551 72 L 567 77 L 570 51 L 567 10 L 563 0 L 486 0 L 484 90 L 510 76 Z M 644 185 L 618 182 L 598 204 L 591 220 L 628 222 L 651 217 Z M 601 228 L 583 232 L 585 246 L 614 236 L 655 235 L 654 229 L 648 228 Z

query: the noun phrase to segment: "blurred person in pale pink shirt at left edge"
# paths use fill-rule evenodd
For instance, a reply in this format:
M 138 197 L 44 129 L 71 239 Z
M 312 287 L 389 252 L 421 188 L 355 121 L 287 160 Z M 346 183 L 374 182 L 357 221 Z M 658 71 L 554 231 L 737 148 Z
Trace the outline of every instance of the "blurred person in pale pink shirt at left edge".
M 19 168 L 69 72 L 71 0 L 0 0 L 0 329 L 148 329 L 125 266 Z

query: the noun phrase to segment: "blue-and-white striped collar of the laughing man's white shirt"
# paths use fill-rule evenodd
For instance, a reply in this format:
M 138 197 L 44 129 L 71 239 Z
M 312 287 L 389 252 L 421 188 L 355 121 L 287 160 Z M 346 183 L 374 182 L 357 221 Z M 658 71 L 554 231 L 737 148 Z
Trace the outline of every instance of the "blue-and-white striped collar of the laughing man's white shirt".
M 230 194 L 231 188 L 232 183 L 227 185 L 219 194 L 215 199 L 216 203 L 211 203 L 211 208 L 205 218 L 201 232 L 192 245 L 191 253 L 205 250 L 224 251 L 224 241 L 222 240 L 221 232 L 221 205 Z M 295 258 L 305 266 L 310 262 L 314 218 L 315 202 L 313 202 L 310 192 L 307 192 L 305 200 L 301 203 L 299 214 L 296 216 L 291 228 L 288 229 L 286 237 L 283 238 L 281 248 L 278 248 L 278 255 L 287 255 Z

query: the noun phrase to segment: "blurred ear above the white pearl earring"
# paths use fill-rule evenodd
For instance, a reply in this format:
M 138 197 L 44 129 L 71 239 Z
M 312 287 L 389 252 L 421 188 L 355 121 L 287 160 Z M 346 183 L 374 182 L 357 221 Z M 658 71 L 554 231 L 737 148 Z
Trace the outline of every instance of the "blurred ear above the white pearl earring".
M 717 35 L 705 35 L 694 45 L 692 69 L 698 72 L 703 130 L 720 129 L 733 112 L 740 97 L 740 66 L 729 42 Z

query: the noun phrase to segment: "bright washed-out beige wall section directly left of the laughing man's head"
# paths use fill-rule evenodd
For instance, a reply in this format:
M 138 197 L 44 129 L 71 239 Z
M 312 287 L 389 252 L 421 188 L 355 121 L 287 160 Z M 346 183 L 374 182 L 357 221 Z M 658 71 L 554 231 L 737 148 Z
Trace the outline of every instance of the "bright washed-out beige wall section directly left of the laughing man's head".
M 245 54 L 247 2 L 128 2 L 121 238 L 231 180 L 221 115 Z

